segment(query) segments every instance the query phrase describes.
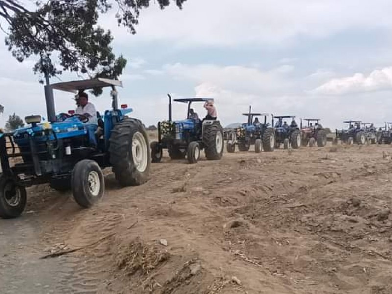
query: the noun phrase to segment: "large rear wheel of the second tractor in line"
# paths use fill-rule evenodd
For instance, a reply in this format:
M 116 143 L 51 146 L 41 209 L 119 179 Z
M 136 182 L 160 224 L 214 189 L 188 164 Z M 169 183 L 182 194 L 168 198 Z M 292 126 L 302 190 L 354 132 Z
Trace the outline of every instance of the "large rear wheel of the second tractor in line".
M 224 149 L 223 128 L 221 123 L 214 121 L 214 123 L 204 125 L 203 127 L 202 142 L 204 145 L 205 157 L 208 160 L 221 159 Z

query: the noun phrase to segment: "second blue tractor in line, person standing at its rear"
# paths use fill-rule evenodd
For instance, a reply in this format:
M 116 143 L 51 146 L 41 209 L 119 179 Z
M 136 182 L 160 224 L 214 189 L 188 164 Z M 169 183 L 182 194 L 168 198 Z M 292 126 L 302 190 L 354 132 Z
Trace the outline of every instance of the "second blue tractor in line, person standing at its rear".
M 160 162 L 162 150 L 167 149 L 170 158 L 184 159 L 196 163 L 200 150 L 204 149 L 208 160 L 221 159 L 223 156 L 223 128 L 218 120 L 192 118 L 191 105 L 206 102 L 210 98 L 174 99 L 175 102 L 188 104 L 185 120 L 172 120 L 172 97 L 169 97 L 169 120 L 158 123 L 158 141 L 151 142 L 152 162 Z

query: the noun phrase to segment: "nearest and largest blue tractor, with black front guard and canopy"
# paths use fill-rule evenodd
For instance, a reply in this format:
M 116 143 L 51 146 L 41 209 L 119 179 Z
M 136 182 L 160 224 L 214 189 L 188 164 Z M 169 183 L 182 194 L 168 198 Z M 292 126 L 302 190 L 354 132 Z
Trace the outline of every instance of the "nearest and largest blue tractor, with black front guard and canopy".
M 118 80 L 103 78 L 46 86 L 49 122 L 41 123 L 41 116 L 32 115 L 25 118 L 29 126 L 0 134 L 0 217 L 22 214 L 26 187 L 32 185 L 50 183 L 59 191 L 72 190 L 75 201 L 88 208 L 104 194 L 103 168 L 111 167 L 122 186 L 147 181 L 151 161 L 147 132 L 140 120 L 126 116 L 131 108 L 118 107 L 116 87 L 122 86 Z M 112 109 L 103 117 L 97 113 L 98 145 L 93 148 L 85 128 L 88 117 L 73 112 L 56 116 L 48 93 L 104 87 L 112 89 Z

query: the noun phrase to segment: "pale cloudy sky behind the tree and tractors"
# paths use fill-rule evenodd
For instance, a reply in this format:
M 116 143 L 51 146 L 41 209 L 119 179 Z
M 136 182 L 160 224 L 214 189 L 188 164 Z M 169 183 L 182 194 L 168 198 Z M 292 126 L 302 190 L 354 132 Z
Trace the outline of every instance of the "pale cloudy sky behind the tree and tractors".
M 120 101 L 146 125 L 167 118 L 171 93 L 215 98 L 223 125 L 243 121 L 252 105 L 319 117 L 335 128 L 345 119 L 392 121 L 391 11 L 391 0 L 188 0 L 182 11 L 143 11 L 134 36 L 110 15 L 101 23 L 128 59 Z M 46 116 L 33 62 L 18 63 L 5 46 L 0 58 L 0 125 L 14 111 Z M 55 97 L 58 112 L 74 107 L 72 95 Z M 110 107 L 108 92 L 91 101 L 99 110 Z M 195 108 L 204 115 L 202 105 Z M 174 106 L 175 118 L 185 115 L 183 105 Z

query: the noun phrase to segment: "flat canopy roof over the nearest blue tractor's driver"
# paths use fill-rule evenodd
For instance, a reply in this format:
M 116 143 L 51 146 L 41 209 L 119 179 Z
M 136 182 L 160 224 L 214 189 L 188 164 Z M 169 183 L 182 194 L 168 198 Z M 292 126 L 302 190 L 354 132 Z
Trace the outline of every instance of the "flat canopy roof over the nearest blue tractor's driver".
M 56 90 L 76 93 L 77 90 L 87 90 L 87 89 L 103 88 L 103 87 L 111 87 L 111 86 L 123 87 L 123 83 L 118 80 L 112 80 L 107 78 L 93 78 L 93 79 L 78 80 L 72 82 L 56 83 L 51 86 L 53 89 Z

